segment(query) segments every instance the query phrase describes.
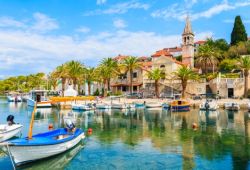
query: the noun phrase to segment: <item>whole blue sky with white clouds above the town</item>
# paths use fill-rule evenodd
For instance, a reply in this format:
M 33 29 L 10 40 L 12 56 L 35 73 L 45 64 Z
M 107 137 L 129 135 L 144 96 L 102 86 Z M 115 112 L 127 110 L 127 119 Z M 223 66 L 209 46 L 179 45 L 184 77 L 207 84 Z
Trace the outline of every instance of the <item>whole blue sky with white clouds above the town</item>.
M 196 41 L 230 42 L 236 15 L 250 35 L 249 9 L 250 0 L 0 0 L 0 79 L 151 56 L 181 44 L 187 14 Z

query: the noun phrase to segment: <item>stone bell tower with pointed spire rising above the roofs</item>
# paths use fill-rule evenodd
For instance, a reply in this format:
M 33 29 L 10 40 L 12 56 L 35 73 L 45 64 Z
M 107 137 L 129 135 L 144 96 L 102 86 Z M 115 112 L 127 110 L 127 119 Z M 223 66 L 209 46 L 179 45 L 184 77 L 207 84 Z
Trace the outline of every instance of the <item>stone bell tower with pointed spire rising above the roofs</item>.
M 192 31 L 189 16 L 182 34 L 182 62 L 190 68 L 194 67 L 194 33 Z

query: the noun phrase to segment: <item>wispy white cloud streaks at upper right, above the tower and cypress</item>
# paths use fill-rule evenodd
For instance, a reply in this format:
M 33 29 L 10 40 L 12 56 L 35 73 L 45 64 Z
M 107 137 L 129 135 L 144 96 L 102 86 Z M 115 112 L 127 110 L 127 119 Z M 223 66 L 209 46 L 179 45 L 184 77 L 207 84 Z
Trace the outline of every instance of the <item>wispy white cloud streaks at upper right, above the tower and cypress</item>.
M 185 2 L 189 4 L 186 4 L 183 6 L 182 4 L 175 3 L 166 9 L 159 9 L 159 10 L 152 12 L 151 16 L 155 18 L 164 18 L 164 19 L 172 18 L 172 19 L 178 19 L 180 21 L 183 21 L 187 13 L 189 13 L 189 11 L 192 11 L 187 8 L 191 8 L 194 4 L 198 3 L 197 0 L 191 0 L 191 1 L 185 0 Z M 227 0 L 223 0 L 222 2 L 215 4 L 204 11 L 192 12 L 192 13 L 189 13 L 189 15 L 191 16 L 192 20 L 197 20 L 200 18 L 211 18 L 222 12 L 234 10 L 234 9 L 241 8 L 241 7 L 247 7 L 247 6 L 250 6 L 249 0 L 247 1 L 237 0 L 234 2 L 228 2 Z

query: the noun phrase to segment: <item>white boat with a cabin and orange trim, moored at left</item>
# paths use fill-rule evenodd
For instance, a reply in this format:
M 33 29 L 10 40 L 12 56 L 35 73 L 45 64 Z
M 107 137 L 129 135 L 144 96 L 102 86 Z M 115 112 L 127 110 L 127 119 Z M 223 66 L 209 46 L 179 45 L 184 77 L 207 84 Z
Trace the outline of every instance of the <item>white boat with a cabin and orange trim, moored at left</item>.
M 51 107 L 51 103 L 47 96 L 47 90 L 32 90 L 29 98 L 27 99 L 27 105 L 34 107 Z

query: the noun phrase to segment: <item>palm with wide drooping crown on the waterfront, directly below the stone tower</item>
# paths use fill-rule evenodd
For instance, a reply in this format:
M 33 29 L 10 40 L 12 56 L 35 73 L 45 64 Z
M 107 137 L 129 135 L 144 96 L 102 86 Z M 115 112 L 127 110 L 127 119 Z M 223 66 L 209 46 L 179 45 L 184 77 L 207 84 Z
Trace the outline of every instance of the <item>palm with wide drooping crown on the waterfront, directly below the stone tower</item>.
M 188 80 L 198 80 L 199 76 L 191 68 L 187 66 L 181 66 L 178 70 L 172 73 L 174 79 L 181 81 L 182 86 L 182 98 L 185 98 L 185 92 Z

